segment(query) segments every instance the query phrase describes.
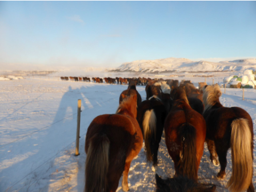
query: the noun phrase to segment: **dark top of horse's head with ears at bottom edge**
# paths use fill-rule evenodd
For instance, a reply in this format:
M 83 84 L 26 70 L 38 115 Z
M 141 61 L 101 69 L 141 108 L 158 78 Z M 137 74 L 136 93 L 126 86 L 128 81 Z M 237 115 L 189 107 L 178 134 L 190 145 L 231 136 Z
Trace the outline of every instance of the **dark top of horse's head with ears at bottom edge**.
M 182 176 L 162 179 L 155 174 L 155 180 L 157 181 L 156 192 L 214 192 L 216 190 L 215 185 L 197 183 L 194 179 Z

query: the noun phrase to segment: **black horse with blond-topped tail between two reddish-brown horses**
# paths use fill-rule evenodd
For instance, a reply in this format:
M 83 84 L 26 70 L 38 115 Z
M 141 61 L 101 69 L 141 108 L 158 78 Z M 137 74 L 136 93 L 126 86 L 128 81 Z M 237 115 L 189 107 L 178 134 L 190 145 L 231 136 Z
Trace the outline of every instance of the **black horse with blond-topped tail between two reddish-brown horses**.
M 137 120 L 145 141 L 146 159 L 149 162 L 153 161 L 152 170 L 155 171 L 167 111 L 165 105 L 163 105 L 159 87 L 152 86 L 151 93 L 153 96 L 138 106 Z

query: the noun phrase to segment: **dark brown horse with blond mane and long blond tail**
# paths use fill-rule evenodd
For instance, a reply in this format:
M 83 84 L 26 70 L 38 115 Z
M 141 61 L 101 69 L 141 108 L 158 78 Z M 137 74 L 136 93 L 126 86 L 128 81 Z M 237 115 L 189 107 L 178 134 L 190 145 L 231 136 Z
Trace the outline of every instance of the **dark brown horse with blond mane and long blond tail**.
M 225 178 L 227 150 L 231 147 L 232 174 L 227 183 L 230 191 L 254 191 L 253 186 L 253 121 L 239 107 L 223 107 L 219 102 L 221 89 L 217 84 L 203 88 L 203 117 L 207 126 L 207 146 L 210 158 L 216 164 L 217 155 L 221 170 L 217 174 Z M 217 155 L 216 155 L 217 153 Z

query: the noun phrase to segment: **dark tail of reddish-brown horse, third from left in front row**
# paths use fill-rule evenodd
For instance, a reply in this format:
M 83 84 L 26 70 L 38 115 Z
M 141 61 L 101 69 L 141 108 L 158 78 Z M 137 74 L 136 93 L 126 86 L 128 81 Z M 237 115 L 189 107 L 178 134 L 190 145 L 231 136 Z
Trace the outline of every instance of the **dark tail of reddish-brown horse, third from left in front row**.
M 179 154 L 178 171 L 180 175 L 189 179 L 197 179 L 197 146 L 195 127 L 190 123 L 183 123 L 178 129 L 182 151 Z

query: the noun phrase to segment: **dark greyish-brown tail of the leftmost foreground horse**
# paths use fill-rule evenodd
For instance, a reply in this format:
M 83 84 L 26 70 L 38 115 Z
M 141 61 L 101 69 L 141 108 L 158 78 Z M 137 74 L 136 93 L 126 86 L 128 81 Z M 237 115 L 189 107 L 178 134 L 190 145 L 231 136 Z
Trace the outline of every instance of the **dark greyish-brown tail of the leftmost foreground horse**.
M 85 162 L 85 192 L 107 191 L 110 141 L 107 135 L 90 139 Z

